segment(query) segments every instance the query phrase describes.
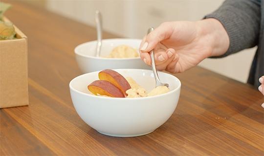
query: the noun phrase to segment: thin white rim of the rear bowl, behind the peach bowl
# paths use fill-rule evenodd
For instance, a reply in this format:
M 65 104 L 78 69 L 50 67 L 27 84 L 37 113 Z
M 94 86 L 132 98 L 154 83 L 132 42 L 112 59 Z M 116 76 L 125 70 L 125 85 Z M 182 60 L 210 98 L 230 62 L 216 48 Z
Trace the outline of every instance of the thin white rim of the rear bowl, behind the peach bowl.
M 112 38 L 112 39 L 102 39 L 102 41 L 109 41 L 109 40 L 118 40 L 118 39 L 124 39 L 124 40 L 142 40 L 142 39 L 129 39 L 129 38 Z M 88 41 L 88 42 L 84 42 L 84 43 L 81 43 L 79 45 L 77 45 L 75 48 L 74 48 L 74 53 L 75 55 L 79 55 L 81 57 L 85 57 L 85 58 L 91 58 L 91 59 L 105 59 L 105 60 L 133 60 L 133 59 L 140 59 L 140 56 L 139 57 L 136 57 L 136 58 L 101 58 L 101 57 L 94 57 L 94 56 L 88 56 L 88 55 L 84 55 L 84 54 L 81 54 L 80 52 L 77 51 L 77 49 L 80 47 L 80 46 L 83 46 L 84 44 L 87 44 L 89 42 L 96 42 L 97 40 L 91 40 L 91 41 Z

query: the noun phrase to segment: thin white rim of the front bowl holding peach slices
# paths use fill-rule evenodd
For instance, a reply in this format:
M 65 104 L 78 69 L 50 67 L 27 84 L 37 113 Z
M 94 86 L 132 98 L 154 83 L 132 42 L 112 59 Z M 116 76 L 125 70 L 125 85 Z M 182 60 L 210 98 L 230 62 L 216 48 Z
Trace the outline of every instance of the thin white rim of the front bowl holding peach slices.
M 112 70 L 143 70 L 143 71 L 152 71 L 152 70 L 147 70 L 147 69 L 132 69 L 132 68 L 131 69 L 112 69 Z M 85 73 L 85 74 L 82 74 L 82 75 L 79 75 L 79 76 L 73 78 L 69 82 L 69 88 L 70 88 L 70 90 L 73 90 L 73 91 L 75 91 L 75 92 L 77 92 L 79 94 L 82 94 L 82 95 L 85 95 L 85 96 L 88 96 L 88 97 L 92 97 L 92 98 L 103 98 L 103 99 L 105 98 L 105 99 L 116 99 L 116 100 L 126 100 L 126 99 L 138 100 L 138 99 L 158 98 L 158 97 L 166 96 L 168 94 L 172 94 L 173 92 L 176 92 L 181 87 L 181 81 L 176 76 L 173 76 L 171 74 L 168 74 L 168 73 L 165 73 L 165 72 L 162 72 L 162 71 L 159 71 L 159 72 L 164 73 L 165 75 L 168 75 L 170 77 L 176 78 L 176 80 L 179 82 L 179 85 L 174 90 L 170 90 L 167 93 L 160 94 L 160 95 L 156 95 L 156 96 L 151 96 L 151 97 L 141 97 L 141 98 L 114 98 L 114 97 L 95 96 L 95 95 L 91 95 L 91 94 L 87 94 L 87 93 L 83 93 L 81 91 L 78 91 L 77 89 L 73 88 L 73 86 L 71 85 L 75 79 L 77 79 L 79 77 L 82 77 L 84 75 L 88 75 L 88 74 L 92 74 L 92 73 L 97 73 L 97 72 L 100 72 L 100 71 Z

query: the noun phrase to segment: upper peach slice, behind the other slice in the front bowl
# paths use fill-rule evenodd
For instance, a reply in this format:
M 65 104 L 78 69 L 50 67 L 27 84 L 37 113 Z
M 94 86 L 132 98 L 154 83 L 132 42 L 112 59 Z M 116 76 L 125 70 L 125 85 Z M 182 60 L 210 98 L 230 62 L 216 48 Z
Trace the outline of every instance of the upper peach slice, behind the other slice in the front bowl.
M 99 79 L 106 80 L 120 89 L 127 96 L 126 91 L 131 89 L 129 82 L 121 74 L 114 70 L 106 69 L 98 74 Z

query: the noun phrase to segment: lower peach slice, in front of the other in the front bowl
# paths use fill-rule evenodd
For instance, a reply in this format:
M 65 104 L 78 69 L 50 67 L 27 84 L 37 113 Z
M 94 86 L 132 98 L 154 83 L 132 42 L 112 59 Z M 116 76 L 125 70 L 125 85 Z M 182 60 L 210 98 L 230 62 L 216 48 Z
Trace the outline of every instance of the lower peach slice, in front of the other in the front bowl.
M 94 95 L 109 96 L 114 98 L 125 98 L 122 91 L 109 81 L 95 80 L 88 85 L 88 90 Z

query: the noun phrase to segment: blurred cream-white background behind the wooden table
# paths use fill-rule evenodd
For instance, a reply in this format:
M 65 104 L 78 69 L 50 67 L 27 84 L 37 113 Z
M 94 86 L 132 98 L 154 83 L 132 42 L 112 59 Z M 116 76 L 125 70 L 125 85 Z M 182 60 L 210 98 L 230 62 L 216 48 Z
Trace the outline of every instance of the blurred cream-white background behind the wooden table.
M 47 0 L 47 8 L 73 20 L 95 25 L 95 10 L 103 28 L 125 38 L 142 38 L 150 26 L 164 21 L 200 20 L 224 0 Z M 256 48 L 224 59 L 205 59 L 199 66 L 246 82 Z

